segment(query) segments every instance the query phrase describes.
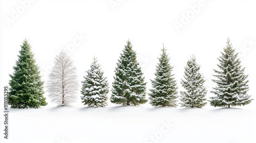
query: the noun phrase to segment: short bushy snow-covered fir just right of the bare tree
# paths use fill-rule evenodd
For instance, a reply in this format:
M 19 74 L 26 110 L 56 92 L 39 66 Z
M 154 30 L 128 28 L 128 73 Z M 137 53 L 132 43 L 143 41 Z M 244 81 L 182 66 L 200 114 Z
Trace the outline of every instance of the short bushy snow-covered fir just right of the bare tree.
M 87 75 L 84 76 L 82 81 L 81 96 L 82 103 L 84 105 L 94 105 L 94 107 L 105 107 L 108 105 L 109 83 L 106 77 L 103 77 L 104 72 L 100 68 L 100 64 L 97 63 L 97 59 L 94 57 L 91 64 L 91 68 L 86 71 Z

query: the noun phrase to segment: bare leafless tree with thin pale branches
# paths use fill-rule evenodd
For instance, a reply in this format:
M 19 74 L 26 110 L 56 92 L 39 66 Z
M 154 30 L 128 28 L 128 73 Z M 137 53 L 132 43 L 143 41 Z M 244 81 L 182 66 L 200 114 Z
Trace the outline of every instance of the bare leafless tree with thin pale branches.
M 69 106 L 77 99 L 78 85 L 76 67 L 67 52 L 62 50 L 56 56 L 49 74 L 47 82 L 49 98 L 58 106 Z

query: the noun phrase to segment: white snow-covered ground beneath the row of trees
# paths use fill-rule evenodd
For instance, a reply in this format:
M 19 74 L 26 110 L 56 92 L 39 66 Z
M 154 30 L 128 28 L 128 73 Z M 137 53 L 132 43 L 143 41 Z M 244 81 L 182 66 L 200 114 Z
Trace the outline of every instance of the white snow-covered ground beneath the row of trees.
M 4 142 L 256 142 L 255 109 L 88 106 L 9 109 Z M 2 121 L 2 120 L 1 120 Z M 3 125 L 3 123 L 0 123 Z M 2 142 L 1 141 L 1 142 Z

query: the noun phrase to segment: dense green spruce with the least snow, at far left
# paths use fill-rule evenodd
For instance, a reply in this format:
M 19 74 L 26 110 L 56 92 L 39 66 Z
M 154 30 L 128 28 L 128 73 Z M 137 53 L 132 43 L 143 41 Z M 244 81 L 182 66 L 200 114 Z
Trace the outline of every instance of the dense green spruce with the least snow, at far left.
M 20 45 L 22 49 L 19 51 L 16 65 L 13 66 L 14 73 L 9 75 L 9 105 L 11 108 L 38 108 L 46 106 L 46 98 L 44 98 L 44 82 L 41 81 L 39 66 L 36 64 L 34 54 L 28 40 L 23 41 Z

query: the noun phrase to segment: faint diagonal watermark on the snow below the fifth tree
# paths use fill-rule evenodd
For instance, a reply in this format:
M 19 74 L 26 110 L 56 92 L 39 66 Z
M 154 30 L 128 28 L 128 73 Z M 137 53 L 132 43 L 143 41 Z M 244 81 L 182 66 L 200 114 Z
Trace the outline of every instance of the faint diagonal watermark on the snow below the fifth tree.
M 159 131 L 156 131 L 155 134 L 150 135 L 148 138 L 145 139 L 145 143 L 156 143 L 159 142 L 160 139 L 163 138 L 163 135 L 168 133 L 172 127 L 174 127 L 173 124 L 170 124 L 169 121 L 162 122 L 162 126 Z

